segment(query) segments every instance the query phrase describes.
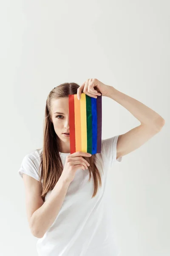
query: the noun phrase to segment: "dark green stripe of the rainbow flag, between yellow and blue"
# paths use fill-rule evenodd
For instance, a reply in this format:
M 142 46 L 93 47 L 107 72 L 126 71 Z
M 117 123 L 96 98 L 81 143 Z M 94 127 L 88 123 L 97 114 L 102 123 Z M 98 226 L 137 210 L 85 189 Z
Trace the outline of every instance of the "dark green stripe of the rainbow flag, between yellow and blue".
M 86 97 L 86 117 L 87 117 L 87 152 L 92 154 L 92 114 L 91 114 L 91 97 Z

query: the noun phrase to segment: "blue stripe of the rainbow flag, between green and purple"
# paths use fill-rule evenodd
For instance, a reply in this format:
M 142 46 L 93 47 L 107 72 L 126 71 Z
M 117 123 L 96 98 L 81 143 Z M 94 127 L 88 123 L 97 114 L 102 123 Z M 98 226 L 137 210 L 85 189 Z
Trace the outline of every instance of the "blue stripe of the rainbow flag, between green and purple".
M 92 154 L 97 151 L 97 102 L 91 97 L 91 114 L 92 114 Z

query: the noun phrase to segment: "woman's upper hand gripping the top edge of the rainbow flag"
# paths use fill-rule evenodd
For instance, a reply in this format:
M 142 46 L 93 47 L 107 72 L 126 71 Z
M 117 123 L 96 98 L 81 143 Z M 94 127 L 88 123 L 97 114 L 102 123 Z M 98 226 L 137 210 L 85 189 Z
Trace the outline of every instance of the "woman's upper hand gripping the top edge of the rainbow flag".
M 106 96 L 108 94 L 108 88 L 108 85 L 103 84 L 96 78 L 88 79 L 77 89 L 77 98 L 81 99 L 82 92 L 93 98 L 97 98 L 101 93 L 102 96 Z

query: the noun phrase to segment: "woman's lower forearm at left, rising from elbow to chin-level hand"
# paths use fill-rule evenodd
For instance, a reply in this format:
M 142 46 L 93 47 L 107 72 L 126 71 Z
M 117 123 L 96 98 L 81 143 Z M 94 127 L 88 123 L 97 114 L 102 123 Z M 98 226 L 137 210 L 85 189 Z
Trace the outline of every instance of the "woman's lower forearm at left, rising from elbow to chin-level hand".
M 51 227 L 57 218 L 69 185 L 70 183 L 65 181 L 61 175 L 49 198 L 33 213 L 30 224 L 33 236 L 42 238 L 49 227 Z

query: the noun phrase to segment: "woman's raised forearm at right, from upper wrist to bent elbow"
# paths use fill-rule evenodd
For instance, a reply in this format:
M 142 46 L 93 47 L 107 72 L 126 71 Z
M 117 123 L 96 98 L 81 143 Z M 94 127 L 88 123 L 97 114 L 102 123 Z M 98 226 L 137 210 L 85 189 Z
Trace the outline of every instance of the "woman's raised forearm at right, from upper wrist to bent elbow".
M 125 107 L 143 125 L 150 125 L 156 129 L 159 129 L 159 127 L 164 123 L 164 119 L 151 108 L 148 108 L 142 102 L 127 96 L 126 94 L 116 90 L 114 87 L 109 85 L 107 97 L 115 100 L 120 105 Z

